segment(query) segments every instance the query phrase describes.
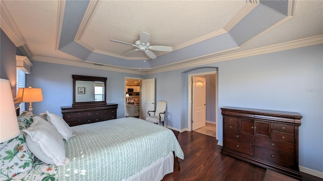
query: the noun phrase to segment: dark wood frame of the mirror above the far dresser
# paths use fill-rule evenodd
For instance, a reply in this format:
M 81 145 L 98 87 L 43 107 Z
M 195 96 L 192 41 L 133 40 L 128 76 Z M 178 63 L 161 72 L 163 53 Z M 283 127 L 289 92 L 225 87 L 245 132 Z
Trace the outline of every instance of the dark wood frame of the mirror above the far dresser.
M 95 107 L 95 106 L 102 106 L 106 105 L 106 77 L 95 77 L 95 76 L 84 76 L 84 75 L 72 75 L 73 78 L 73 105 L 72 107 Z M 104 82 L 104 101 L 92 101 L 92 102 L 75 102 L 75 92 L 76 92 L 76 81 L 83 80 L 83 81 L 101 81 Z

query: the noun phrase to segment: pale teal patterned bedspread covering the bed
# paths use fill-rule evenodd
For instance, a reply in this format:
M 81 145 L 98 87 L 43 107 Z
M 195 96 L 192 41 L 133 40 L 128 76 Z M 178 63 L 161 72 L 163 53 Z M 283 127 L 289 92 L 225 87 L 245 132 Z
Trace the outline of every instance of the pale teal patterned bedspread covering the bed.
M 70 163 L 57 166 L 59 180 L 122 180 L 174 151 L 184 153 L 172 130 L 137 119 L 120 118 L 72 127 L 65 142 Z

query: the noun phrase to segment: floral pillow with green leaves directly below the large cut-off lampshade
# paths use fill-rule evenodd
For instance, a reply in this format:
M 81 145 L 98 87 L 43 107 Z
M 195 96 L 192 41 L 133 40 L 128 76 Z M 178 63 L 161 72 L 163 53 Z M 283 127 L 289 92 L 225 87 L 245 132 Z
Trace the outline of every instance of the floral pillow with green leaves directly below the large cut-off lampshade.
M 12 177 L 31 170 L 34 155 L 27 148 L 22 131 L 16 138 L 1 143 L 0 147 L 0 180 L 11 180 Z

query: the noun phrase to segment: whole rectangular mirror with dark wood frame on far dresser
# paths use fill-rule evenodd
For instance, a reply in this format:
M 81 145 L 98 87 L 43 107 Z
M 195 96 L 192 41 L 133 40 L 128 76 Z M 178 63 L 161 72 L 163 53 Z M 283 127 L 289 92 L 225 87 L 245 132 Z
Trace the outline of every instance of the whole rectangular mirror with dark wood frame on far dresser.
M 106 105 L 106 77 L 72 75 L 72 78 L 72 107 Z

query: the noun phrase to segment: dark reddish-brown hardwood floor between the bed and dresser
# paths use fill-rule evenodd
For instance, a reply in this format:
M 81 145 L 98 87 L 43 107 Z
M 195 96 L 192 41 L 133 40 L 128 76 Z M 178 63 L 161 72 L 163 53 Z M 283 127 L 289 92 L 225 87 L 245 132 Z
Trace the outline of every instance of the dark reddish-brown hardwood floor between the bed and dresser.
M 179 159 L 181 170 L 165 175 L 163 181 L 177 180 L 255 180 L 262 181 L 265 168 L 221 155 L 222 146 L 216 138 L 196 132 L 185 131 L 178 135 L 184 152 L 184 160 Z M 320 180 L 302 173 L 303 180 Z

